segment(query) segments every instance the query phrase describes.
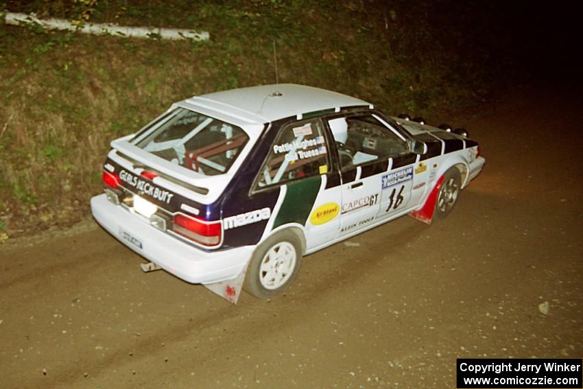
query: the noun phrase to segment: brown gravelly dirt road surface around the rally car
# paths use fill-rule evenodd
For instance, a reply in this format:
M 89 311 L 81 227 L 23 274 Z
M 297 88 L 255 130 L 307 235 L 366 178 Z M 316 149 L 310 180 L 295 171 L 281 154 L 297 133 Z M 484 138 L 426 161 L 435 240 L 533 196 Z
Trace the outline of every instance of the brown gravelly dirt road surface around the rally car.
M 453 213 L 310 255 L 270 302 L 144 274 L 93 223 L 9 241 L 0 387 L 451 388 L 457 357 L 582 357 L 582 108 L 524 87 L 454 118 L 487 162 Z

